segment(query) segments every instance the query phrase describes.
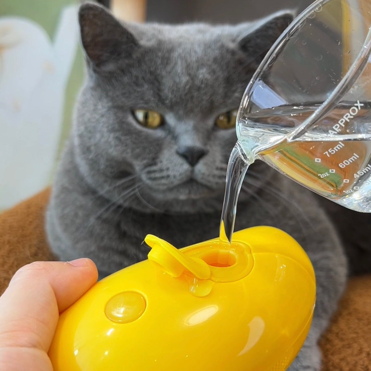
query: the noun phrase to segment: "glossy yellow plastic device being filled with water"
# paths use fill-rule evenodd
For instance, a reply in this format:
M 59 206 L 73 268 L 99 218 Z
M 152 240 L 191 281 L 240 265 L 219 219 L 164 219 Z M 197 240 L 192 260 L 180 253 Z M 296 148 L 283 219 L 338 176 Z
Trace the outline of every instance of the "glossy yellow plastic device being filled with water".
M 60 316 L 54 371 L 283 371 L 311 325 L 315 276 L 272 227 L 181 250 L 154 236 L 148 260 L 96 283 Z

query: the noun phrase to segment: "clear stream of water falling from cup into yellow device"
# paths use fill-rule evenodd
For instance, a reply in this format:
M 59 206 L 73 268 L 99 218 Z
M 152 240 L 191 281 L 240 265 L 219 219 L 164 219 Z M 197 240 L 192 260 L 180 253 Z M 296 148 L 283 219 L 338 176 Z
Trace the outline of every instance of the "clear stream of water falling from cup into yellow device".
M 227 244 L 232 242 L 234 221 L 238 196 L 243 183 L 243 178 L 250 160 L 247 158 L 239 142 L 233 147 L 227 167 L 226 191 L 224 193 L 223 209 L 221 211 L 219 239 Z

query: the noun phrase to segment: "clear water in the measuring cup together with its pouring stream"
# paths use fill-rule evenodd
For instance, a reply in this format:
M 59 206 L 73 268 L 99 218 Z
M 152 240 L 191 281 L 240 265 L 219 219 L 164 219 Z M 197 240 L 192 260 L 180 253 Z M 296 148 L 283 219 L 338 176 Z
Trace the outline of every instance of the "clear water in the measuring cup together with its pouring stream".
M 281 106 L 242 117 L 227 170 L 220 238 L 231 240 L 243 177 L 256 159 L 348 209 L 371 212 L 371 141 L 362 140 L 371 133 L 371 109 L 369 102 L 358 103 L 357 112 L 354 104 L 339 105 L 292 142 L 286 135 L 318 105 Z

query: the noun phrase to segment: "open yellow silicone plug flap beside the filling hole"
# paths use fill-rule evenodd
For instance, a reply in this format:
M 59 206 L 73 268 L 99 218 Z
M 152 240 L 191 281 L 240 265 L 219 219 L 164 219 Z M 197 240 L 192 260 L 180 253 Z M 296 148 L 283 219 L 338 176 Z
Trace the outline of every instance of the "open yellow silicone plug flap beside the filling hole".
M 184 270 L 188 270 L 198 279 L 210 278 L 210 267 L 203 260 L 185 256 L 176 247 L 152 234 L 147 234 L 144 242 L 151 247 L 148 259 L 161 265 L 169 275 L 179 277 Z

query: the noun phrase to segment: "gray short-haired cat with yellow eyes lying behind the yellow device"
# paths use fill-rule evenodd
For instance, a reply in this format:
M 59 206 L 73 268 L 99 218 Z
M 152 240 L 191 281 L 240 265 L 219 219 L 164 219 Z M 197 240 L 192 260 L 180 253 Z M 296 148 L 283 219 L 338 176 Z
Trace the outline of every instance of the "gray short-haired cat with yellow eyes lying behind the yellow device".
M 102 278 L 145 259 L 147 233 L 177 247 L 218 235 L 235 110 L 292 18 L 280 12 L 237 26 L 123 26 L 102 7 L 81 7 L 88 78 L 47 210 L 60 259 L 88 256 Z M 290 370 L 319 370 L 317 341 L 347 276 L 341 243 L 310 191 L 257 162 L 235 229 L 260 224 L 288 232 L 312 260 L 315 316 Z

